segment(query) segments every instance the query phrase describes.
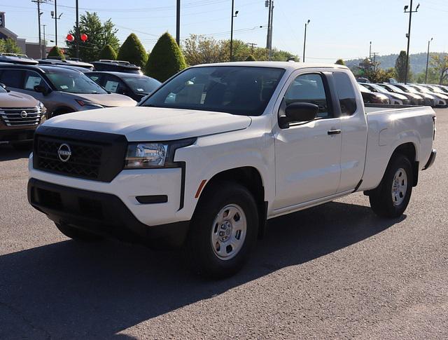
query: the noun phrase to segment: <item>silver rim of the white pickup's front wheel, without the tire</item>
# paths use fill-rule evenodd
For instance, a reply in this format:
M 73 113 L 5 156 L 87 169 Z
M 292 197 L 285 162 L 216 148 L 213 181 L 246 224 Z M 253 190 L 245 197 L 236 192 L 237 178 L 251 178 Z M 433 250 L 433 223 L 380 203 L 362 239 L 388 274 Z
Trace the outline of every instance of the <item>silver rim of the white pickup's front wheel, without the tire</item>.
M 247 219 L 239 205 L 226 205 L 211 226 L 211 247 L 216 257 L 229 260 L 235 257 L 244 244 Z

